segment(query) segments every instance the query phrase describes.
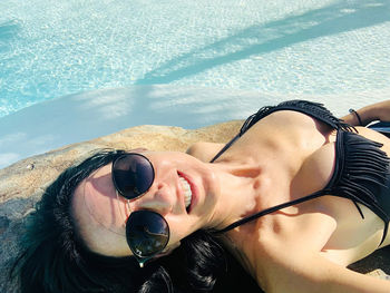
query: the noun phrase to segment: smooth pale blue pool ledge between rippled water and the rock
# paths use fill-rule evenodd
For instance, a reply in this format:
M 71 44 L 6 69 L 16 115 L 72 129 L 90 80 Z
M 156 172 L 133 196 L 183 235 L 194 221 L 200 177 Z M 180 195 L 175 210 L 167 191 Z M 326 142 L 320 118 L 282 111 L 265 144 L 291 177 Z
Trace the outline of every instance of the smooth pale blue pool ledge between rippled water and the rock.
M 271 105 L 274 100 L 262 97 L 257 104 L 256 97 L 257 92 L 237 95 L 224 89 L 145 85 L 48 100 L 0 119 L 0 168 L 21 158 L 137 125 L 193 129 L 242 119 L 262 102 Z

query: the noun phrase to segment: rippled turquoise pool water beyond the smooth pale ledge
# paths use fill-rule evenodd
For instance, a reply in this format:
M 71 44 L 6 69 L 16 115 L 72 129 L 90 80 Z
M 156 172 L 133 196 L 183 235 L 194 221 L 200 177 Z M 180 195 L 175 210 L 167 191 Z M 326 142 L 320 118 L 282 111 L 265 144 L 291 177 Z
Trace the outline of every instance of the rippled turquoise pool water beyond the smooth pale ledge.
M 390 85 L 388 0 L 2 0 L 0 11 L 0 117 L 133 85 L 282 96 Z

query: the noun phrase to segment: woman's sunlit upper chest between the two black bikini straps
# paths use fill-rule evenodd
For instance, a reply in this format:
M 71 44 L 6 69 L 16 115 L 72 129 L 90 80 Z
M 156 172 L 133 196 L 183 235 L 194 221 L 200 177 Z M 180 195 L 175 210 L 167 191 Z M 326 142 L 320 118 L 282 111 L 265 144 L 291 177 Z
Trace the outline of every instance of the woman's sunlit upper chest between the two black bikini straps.
M 276 113 L 279 114 L 279 113 Z M 275 114 L 275 115 L 276 115 Z M 280 113 L 285 115 L 285 113 Z M 334 168 L 332 129 L 299 113 L 295 123 L 266 117 L 254 125 L 230 149 L 227 157 L 256 165 L 259 211 L 322 189 Z M 298 123 L 296 123 L 298 120 Z

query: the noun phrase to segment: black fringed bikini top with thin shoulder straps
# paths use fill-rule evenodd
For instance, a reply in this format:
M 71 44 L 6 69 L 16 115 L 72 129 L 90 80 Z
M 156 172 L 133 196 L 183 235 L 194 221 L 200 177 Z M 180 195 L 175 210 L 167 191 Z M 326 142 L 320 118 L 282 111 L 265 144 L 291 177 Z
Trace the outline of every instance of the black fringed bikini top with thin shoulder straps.
M 323 195 L 333 195 L 351 199 L 362 218 L 364 218 L 364 215 L 358 203 L 370 208 L 384 222 L 381 245 L 386 238 L 390 221 L 390 159 L 386 153 L 380 149 L 382 144 L 358 135 L 354 127 L 334 117 L 322 104 L 305 100 L 290 100 L 274 107 L 267 106 L 261 108 L 245 120 L 240 133 L 218 152 L 211 163 L 215 162 L 254 124 L 279 110 L 303 113 L 338 130 L 335 140 L 335 166 L 331 179 L 321 191 L 261 211 L 254 215 L 236 221 L 216 233 L 224 233 L 255 218 L 292 205 Z

